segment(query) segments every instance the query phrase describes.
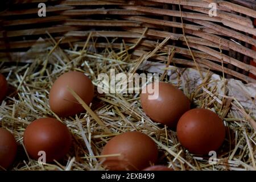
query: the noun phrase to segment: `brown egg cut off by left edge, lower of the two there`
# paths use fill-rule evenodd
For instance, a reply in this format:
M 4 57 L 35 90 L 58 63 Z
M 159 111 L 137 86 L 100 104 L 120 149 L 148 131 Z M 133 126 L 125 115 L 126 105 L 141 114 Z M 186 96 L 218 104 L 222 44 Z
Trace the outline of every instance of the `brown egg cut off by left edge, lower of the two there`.
M 17 144 L 13 134 L 0 128 L 0 166 L 5 169 L 10 167 L 14 162 L 16 152 Z

